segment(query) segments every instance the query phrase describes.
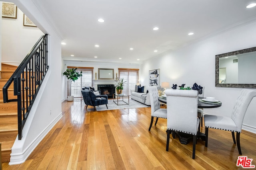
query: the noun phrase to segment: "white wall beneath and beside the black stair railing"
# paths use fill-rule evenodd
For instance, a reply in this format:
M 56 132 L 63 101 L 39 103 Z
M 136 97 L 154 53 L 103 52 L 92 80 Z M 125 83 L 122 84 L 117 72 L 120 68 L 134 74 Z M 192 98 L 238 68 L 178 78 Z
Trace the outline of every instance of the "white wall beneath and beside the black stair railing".
M 45 20 L 33 0 L 12 0 L 44 33 L 48 33 L 49 70 L 38 92 L 30 115 L 23 129 L 22 140 L 16 139 L 9 164 L 19 164 L 50 131 L 62 116 L 61 111 L 61 40 L 51 25 Z M 36 19 L 35 19 L 36 18 Z M 30 30 L 33 31 L 33 30 Z M 38 39 L 38 38 L 37 38 Z

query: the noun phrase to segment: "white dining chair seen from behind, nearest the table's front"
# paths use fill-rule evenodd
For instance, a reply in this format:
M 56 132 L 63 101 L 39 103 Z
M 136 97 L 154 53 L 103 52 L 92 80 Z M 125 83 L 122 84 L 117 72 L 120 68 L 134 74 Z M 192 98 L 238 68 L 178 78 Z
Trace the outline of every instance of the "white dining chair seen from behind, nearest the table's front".
M 167 101 L 167 141 L 169 150 L 170 132 L 175 138 L 175 131 L 193 135 L 193 153 L 196 152 L 196 135 L 200 120 L 197 117 L 198 92 L 196 90 L 171 90 L 165 92 Z

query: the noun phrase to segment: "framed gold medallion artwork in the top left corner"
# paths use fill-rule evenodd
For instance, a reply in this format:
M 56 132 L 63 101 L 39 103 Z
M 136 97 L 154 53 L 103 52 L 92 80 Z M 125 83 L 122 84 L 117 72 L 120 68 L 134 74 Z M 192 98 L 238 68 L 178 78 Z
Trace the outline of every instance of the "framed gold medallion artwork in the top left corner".
M 11 2 L 2 2 L 2 18 L 17 19 L 17 6 Z

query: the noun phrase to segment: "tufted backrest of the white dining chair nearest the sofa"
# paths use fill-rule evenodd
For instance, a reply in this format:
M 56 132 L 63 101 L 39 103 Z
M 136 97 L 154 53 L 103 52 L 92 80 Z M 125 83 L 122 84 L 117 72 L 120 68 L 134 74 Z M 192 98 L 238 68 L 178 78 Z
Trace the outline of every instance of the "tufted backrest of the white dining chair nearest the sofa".
M 151 116 L 154 116 L 154 112 L 157 109 L 160 109 L 160 102 L 158 101 L 158 90 L 156 86 L 148 87 L 148 94 L 150 95 L 150 104 L 151 104 Z

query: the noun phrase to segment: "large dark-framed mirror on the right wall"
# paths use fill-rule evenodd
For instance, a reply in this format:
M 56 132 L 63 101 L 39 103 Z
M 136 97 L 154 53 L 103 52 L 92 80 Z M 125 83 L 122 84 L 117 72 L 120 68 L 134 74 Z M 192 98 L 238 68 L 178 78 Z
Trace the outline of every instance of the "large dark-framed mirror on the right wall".
M 216 55 L 215 86 L 256 88 L 256 47 Z

